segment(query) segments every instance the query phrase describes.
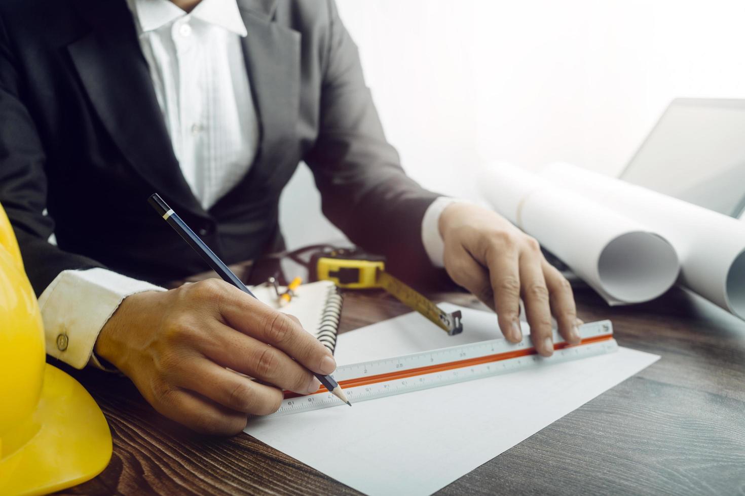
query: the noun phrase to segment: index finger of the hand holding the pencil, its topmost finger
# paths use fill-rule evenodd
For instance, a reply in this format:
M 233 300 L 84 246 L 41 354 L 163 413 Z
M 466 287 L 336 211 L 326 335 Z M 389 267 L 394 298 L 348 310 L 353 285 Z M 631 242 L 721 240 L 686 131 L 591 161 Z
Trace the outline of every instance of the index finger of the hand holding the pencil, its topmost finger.
M 296 321 L 238 289 L 219 302 L 226 323 L 259 341 L 284 351 L 313 372 L 330 374 L 336 361 L 329 350 Z

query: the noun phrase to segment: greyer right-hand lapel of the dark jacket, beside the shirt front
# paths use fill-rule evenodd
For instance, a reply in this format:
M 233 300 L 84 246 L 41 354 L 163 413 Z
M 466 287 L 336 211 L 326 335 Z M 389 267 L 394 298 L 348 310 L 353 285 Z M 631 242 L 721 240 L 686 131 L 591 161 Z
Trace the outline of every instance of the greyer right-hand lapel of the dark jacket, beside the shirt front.
M 243 43 L 253 101 L 259 114 L 259 154 L 246 187 L 267 184 L 288 158 L 297 160 L 300 33 L 272 22 L 274 0 L 238 0 L 247 36 Z

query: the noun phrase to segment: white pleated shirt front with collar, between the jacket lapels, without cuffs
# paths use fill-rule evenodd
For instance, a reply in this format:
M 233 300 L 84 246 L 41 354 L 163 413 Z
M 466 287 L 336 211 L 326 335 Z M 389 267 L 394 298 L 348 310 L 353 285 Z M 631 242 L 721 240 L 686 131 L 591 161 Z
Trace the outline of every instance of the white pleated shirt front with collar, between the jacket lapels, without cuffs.
M 127 0 L 181 172 L 209 209 L 243 178 L 259 123 L 235 0 L 202 0 L 186 13 L 167 0 Z

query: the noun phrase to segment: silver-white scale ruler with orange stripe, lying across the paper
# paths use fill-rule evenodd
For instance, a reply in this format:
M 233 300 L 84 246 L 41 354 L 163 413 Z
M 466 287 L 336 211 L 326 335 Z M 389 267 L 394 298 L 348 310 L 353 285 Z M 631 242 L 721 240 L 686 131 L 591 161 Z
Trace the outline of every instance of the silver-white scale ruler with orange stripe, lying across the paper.
M 550 358 L 539 356 L 530 338 L 526 336 L 516 344 L 504 339 L 494 339 L 359 364 L 341 365 L 335 371 L 334 377 L 343 387 L 349 401 L 354 404 L 531 367 L 546 367 L 562 361 L 603 355 L 618 350 L 610 321 L 580 326 L 580 337 L 580 344 L 570 346 L 554 331 L 554 355 Z M 329 393 L 325 387 L 304 396 L 285 391 L 285 399 L 279 410 L 264 418 L 339 405 L 344 403 Z

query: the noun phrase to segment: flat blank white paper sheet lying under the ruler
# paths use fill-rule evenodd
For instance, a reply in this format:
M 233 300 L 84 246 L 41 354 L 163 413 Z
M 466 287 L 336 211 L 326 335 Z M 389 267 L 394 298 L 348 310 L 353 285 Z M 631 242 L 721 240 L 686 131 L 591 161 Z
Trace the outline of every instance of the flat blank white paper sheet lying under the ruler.
M 463 312 L 462 334 L 402 315 L 340 335 L 337 363 L 501 337 L 493 313 L 443 307 Z M 259 419 L 246 432 L 368 495 L 428 495 L 658 358 L 627 348 L 559 364 L 549 358 L 533 370 Z

